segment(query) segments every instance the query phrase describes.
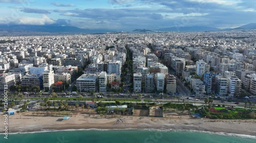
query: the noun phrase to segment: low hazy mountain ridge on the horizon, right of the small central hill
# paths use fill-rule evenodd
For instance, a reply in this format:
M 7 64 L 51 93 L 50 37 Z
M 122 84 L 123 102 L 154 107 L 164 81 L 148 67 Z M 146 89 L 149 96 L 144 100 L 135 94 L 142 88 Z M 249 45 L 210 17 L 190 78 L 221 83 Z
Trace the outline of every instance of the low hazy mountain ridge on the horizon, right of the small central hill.
M 207 26 L 185 26 L 185 27 L 167 27 L 160 28 L 156 31 L 172 31 L 172 32 L 202 32 L 202 31 L 220 31 L 221 29 Z

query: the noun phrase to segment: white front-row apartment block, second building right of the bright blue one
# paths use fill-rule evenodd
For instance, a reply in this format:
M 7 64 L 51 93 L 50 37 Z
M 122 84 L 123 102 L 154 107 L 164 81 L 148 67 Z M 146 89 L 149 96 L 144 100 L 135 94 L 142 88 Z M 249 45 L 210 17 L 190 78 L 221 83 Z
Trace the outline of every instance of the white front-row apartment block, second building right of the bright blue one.
M 228 78 L 228 92 L 230 96 L 239 95 L 241 86 L 242 83 L 238 77 L 231 76 Z

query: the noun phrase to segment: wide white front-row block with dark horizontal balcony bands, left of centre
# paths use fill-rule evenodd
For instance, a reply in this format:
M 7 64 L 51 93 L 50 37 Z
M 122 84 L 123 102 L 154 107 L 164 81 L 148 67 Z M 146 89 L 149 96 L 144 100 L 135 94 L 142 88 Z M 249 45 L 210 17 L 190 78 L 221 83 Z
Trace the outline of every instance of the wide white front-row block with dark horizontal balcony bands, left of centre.
M 76 80 L 77 90 L 81 92 L 97 92 L 97 83 L 97 74 L 83 74 Z

